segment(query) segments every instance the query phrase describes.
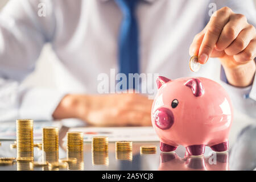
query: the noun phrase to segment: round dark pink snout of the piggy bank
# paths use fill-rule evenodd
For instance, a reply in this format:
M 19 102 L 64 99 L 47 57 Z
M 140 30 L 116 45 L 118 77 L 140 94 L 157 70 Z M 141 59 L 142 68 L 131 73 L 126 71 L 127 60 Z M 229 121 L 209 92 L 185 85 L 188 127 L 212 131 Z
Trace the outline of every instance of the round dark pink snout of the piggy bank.
M 167 130 L 170 129 L 170 127 L 172 127 L 172 125 L 174 124 L 174 114 L 170 109 L 167 109 L 165 107 L 156 109 L 154 117 L 155 125 L 159 127 L 159 129 Z

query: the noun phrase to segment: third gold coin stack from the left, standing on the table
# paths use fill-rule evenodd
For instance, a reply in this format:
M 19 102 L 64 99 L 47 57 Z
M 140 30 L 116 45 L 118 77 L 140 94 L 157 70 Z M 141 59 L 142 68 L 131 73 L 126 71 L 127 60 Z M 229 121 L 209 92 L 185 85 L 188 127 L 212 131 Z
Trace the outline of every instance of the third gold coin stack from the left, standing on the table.
M 82 151 L 84 148 L 84 133 L 82 132 L 68 132 L 67 133 L 67 150 L 68 151 Z

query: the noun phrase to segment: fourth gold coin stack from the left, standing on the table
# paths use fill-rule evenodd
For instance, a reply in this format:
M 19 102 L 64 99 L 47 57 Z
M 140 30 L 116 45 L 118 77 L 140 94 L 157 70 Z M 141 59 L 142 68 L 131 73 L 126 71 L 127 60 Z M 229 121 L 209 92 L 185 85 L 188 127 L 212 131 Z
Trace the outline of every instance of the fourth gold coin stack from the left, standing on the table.
M 92 138 L 92 150 L 93 151 L 106 151 L 109 146 L 108 137 L 93 137 Z

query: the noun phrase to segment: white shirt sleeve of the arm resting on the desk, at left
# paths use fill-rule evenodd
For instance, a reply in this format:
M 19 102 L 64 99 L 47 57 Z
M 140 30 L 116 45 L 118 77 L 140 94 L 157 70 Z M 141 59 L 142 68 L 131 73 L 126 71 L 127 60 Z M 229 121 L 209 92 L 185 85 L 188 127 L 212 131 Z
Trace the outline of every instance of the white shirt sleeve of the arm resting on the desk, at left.
M 34 71 L 44 44 L 52 39 L 52 6 L 47 0 L 11 0 L 0 13 L 0 121 L 51 119 L 63 97 L 57 90 L 20 84 Z

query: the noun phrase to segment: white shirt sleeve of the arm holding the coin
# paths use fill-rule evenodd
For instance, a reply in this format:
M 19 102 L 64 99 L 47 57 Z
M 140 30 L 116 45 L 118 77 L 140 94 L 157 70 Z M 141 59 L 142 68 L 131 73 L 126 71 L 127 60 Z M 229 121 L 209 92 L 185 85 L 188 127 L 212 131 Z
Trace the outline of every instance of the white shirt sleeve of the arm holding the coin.
M 252 0 L 212 0 L 210 2 L 216 5 L 217 10 L 221 9 L 221 7 L 228 6 L 235 13 L 245 15 L 250 24 L 253 24 L 253 26 L 256 25 L 256 11 L 254 2 Z M 207 22 L 209 19 L 210 16 L 207 12 Z M 237 110 L 240 110 L 242 113 L 256 118 L 256 78 L 254 77 L 254 81 L 251 86 L 247 86 L 246 88 L 238 88 L 229 84 L 225 71 L 221 67 L 220 80 L 221 85 L 224 86 L 229 93 L 234 107 Z

